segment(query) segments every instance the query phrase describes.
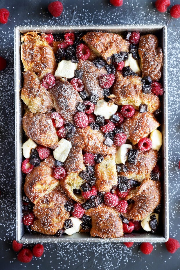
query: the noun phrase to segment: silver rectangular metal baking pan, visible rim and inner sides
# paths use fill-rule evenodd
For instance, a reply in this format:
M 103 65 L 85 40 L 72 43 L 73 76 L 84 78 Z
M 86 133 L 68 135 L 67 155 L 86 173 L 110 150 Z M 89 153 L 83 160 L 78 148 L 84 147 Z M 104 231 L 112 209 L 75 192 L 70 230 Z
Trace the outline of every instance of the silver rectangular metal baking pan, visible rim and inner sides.
M 162 218 L 161 230 L 158 234 L 150 233 L 131 233 L 120 238 L 98 238 L 91 237 L 89 233 L 75 233 L 71 236 L 63 235 L 61 237 L 47 236 L 42 234 L 29 234 L 24 232 L 22 223 L 22 183 L 23 176 L 21 173 L 22 162 L 22 102 L 20 98 L 20 90 L 22 83 L 20 36 L 29 31 L 37 31 L 44 33 L 57 34 L 60 32 L 75 32 L 75 31 L 108 31 L 113 33 L 122 33 L 125 30 L 139 31 L 142 34 L 156 34 L 159 39 L 159 45 L 163 49 L 163 75 L 162 83 L 165 89 L 165 94 L 162 100 L 163 121 L 163 145 L 162 145 Z M 169 216 L 168 216 L 168 89 L 167 89 L 167 28 L 165 25 L 89 25 L 89 26 L 16 26 L 14 28 L 14 50 L 15 50 L 15 138 L 16 138 L 16 239 L 20 243 L 35 243 L 35 242 L 166 242 L 169 238 Z

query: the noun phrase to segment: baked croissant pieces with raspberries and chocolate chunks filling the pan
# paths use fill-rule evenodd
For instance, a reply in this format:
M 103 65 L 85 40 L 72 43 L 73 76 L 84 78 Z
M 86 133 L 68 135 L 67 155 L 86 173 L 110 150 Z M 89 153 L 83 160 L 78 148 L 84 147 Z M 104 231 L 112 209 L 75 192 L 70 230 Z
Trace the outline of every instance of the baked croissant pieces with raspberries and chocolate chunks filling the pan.
M 159 230 L 163 52 L 131 34 L 21 36 L 26 231 Z

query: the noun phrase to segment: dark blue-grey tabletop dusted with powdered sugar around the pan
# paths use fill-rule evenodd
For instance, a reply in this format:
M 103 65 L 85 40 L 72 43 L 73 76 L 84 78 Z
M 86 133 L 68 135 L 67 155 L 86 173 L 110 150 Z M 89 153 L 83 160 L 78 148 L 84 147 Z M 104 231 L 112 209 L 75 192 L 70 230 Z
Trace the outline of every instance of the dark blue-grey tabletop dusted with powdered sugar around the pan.
M 122 7 L 109 0 L 62 0 L 64 11 L 53 18 L 47 0 L 1 0 L 8 8 L 7 24 L 0 24 L 0 56 L 7 68 L 0 71 L 0 269 L 179 269 L 180 251 L 170 254 L 165 244 L 153 244 L 150 255 L 139 251 L 140 244 L 127 249 L 123 244 L 47 244 L 41 258 L 21 264 L 12 250 L 15 239 L 15 131 L 14 131 L 14 49 L 15 25 L 47 24 L 154 24 L 168 26 L 168 103 L 169 103 L 169 204 L 170 237 L 179 237 L 179 38 L 180 19 L 156 11 L 153 1 L 124 0 Z M 180 4 L 171 0 L 171 4 Z M 27 247 L 27 245 L 26 245 Z M 31 247 L 29 245 L 29 247 Z

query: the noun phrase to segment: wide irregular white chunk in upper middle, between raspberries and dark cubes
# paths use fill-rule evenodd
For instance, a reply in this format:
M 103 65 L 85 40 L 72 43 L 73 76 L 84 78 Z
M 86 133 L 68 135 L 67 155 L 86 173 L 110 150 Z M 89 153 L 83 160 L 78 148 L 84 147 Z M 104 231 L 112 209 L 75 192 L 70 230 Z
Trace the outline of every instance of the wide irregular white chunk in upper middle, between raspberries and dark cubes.
M 111 115 L 115 114 L 118 110 L 118 105 L 108 103 L 104 99 L 97 102 L 94 108 L 94 114 L 104 116 L 105 119 L 109 119 Z

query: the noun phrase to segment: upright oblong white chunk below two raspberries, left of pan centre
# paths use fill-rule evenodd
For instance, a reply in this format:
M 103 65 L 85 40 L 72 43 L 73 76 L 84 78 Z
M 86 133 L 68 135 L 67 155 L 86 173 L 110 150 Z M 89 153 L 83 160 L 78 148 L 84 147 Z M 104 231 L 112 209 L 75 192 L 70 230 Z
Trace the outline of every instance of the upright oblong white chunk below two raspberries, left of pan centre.
M 56 149 L 53 151 L 54 158 L 61 162 L 64 162 L 69 155 L 71 147 L 72 147 L 71 142 L 62 138 L 58 142 L 58 146 L 56 147 Z

